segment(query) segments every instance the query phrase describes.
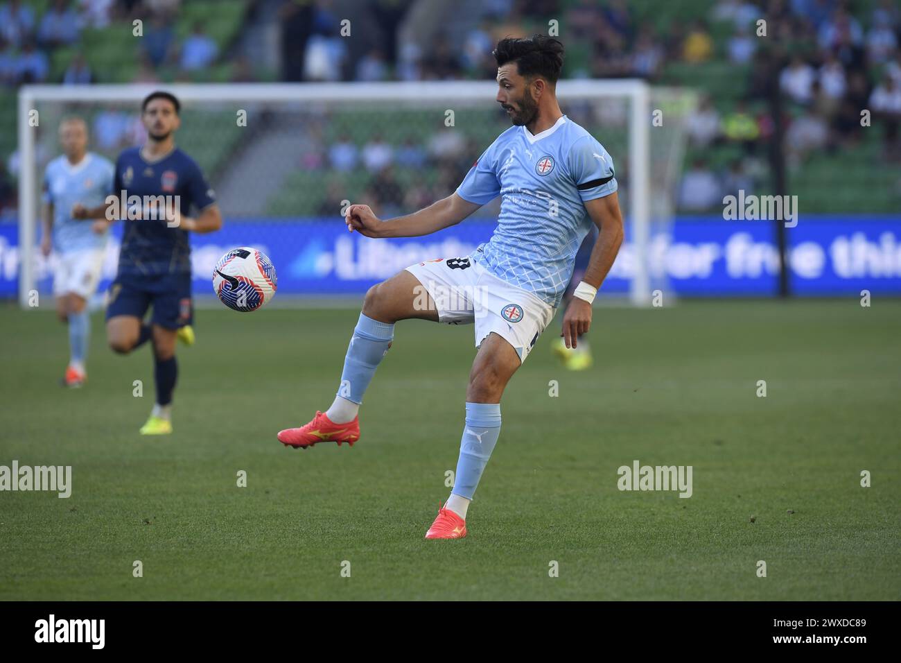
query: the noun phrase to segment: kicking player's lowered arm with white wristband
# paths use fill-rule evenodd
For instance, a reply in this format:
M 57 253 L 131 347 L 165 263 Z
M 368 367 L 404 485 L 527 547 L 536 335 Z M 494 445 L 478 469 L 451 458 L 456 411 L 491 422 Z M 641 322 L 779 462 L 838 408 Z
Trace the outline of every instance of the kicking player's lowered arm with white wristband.
M 595 222 L 600 233 L 591 251 L 591 258 L 585 270 L 582 283 L 595 291 L 601 287 L 607 272 L 614 264 L 616 253 L 623 244 L 623 213 L 620 211 L 619 198 L 612 193 L 604 198 L 595 198 L 585 203 L 588 216 Z M 582 284 L 579 284 L 580 287 Z M 591 327 L 591 302 L 579 299 L 579 290 L 569 302 L 563 315 L 563 340 L 567 347 L 576 347 L 579 334 L 585 334 Z

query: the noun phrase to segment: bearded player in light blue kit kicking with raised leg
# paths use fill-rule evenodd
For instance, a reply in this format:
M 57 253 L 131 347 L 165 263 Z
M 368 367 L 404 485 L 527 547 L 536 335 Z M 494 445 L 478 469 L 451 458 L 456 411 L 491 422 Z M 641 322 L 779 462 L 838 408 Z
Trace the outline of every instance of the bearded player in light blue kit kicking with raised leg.
M 451 496 L 426 539 L 466 536 L 469 502 L 501 428 L 506 383 L 551 322 L 573 272 L 579 244 L 599 228 L 583 281 L 563 317 L 567 346 L 591 325 L 591 302 L 623 242 L 614 164 L 585 129 L 560 111 L 554 87 L 563 64 L 559 40 L 505 39 L 494 51 L 496 101 L 514 126 L 501 134 L 448 198 L 408 216 L 382 221 L 351 205 L 351 232 L 367 237 L 429 235 L 460 223 L 497 196 L 494 235 L 468 256 L 407 267 L 373 286 L 350 339 L 335 400 L 301 428 L 278 433 L 282 444 L 354 443 L 357 412 L 398 320 L 475 323 L 478 352 L 469 373 L 466 419 Z

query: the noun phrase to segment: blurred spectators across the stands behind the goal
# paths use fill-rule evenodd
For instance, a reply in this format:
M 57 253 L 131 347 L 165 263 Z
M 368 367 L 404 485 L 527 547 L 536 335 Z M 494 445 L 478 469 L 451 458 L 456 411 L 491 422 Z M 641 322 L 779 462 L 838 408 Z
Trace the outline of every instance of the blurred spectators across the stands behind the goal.
M 248 24 L 259 18 L 263 4 L 248 3 Z M 483 0 L 467 5 L 478 6 L 480 14 L 461 17 L 460 26 L 449 26 L 426 46 L 399 36 L 415 0 L 368 2 L 376 30 L 362 45 L 341 36 L 334 0 L 268 4 L 278 5 L 280 66 L 275 78 L 286 81 L 494 78 L 491 50 L 496 41 L 547 32 L 550 19 L 559 21 L 569 78 L 639 77 L 661 85 L 691 85 L 699 79 L 693 72 L 702 76 L 720 66 L 729 94 L 707 87 L 688 122 L 689 161 L 678 188 L 678 206 L 684 211 L 712 210 L 728 193 L 769 184 L 766 140 L 774 131 L 769 113 L 774 81 L 786 100 L 782 124 L 790 168 L 812 155 L 855 150 L 865 137 L 862 111 L 875 127 L 870 131 L 880 135 L 877 158 L 889 165 L 901 162 L 897 0 L 696 0 L 688 5 L 705 14 L 687 11 L 684 19 L 667 23 L 651 20 L 652 15 L 626 0 Z M 141 58 L 136 81 L 158 81 L 164 66 L 202 74 L 226 54 L 200 22 L 177 37 L 173 24 L 181 5 L 181 0 L 50 0 L 35 15 L 20 0 L 0 2 L 0 84 L 102 81 L 78 51 L 80 32 L 139 17 L 145 32 L 136 56 Z M 74 47 L 73 55 L 60 78 L 50 80 L 50 57 L 59 47 Z M 240 64 L 232 80 L 265 78 L 241 52 L 227 57 Z M 676 78 L 676 71 L 681 77 Z M 101 149 L 114 150 L 141 140 L 142 129 L 133 116 L 111 111 L 97 116 L 94 133 Z M 324 165 L 341 173 L 359 163 L 383 173 L 399 161 L 419 163 L 428 150 L 378 140 L 356 145 L 347 139 L 324 151 Z M 708 154 L 717 150 L 731 151 L 727 165 L 708 161 Z M 379 177 L 387 180 L 388 175 Z M 382 185 L 379 190 L 388 192 L 382 198 L 390 201 L 395 187 L 387 181 Z M 0 179 L 0 196 L 3 190 Z

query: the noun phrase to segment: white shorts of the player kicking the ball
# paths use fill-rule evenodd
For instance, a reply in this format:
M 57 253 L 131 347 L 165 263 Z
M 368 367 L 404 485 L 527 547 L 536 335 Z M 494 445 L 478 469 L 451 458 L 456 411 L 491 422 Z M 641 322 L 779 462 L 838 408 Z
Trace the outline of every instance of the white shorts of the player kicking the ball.
M 557 310 L 531 292 L 497 278 L 469 257 L 417 262 L 406 271 L 419 279 L 432 297 L 439 322 L 475 323 L 476 347 L 495 332 L 513 345 L 521 363 Z M 424 297 L 422 304 L 425 308 Z

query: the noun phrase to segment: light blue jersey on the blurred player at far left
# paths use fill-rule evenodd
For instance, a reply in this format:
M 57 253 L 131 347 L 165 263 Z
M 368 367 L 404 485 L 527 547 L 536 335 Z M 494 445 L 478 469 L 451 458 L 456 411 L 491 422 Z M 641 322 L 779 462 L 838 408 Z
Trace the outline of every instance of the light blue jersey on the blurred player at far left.
M 76 166 L 63 154 L 47 164 L 44 171 L 44 201 L 53 204 L 53 250 L 57 253 L 102 249 L 107 233 L 91 230 L 90 219 L 72 218 L 72 207 L 81 203 L 97 207 L 113 193 L 113 164 L 87 152 Z

